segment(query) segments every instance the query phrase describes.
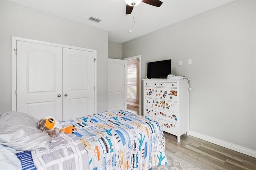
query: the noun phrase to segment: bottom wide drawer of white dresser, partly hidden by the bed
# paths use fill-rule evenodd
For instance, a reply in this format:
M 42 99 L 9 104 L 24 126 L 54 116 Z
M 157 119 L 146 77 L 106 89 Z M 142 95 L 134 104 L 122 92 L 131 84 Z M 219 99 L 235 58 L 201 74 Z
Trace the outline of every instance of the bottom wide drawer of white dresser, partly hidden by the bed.
M 164 121 L 162 119 L 158 119 L 156 117 L 147 116 L 151 120 L 157 121 L 159 125 L 162 127 L 162 130 L 171 133 L 173 135 L 178 135 L 178 125 L 176 123 L 172 123 L 170 121 Z

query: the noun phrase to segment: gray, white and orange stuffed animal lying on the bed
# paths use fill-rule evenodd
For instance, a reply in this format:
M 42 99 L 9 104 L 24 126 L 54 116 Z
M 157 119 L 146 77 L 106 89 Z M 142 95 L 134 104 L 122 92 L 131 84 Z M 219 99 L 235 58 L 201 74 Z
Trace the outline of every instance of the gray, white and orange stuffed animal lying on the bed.
M 76 129 L 74 125 L 62 128 L 60 122 L 55 121 L 54 117 L 45 117 L 44 119 L 40 119 L 36 125 L 38 129 L 47 133 L 52 138 L 56 138 L 60 132 L 74 133 L 73 131 Z

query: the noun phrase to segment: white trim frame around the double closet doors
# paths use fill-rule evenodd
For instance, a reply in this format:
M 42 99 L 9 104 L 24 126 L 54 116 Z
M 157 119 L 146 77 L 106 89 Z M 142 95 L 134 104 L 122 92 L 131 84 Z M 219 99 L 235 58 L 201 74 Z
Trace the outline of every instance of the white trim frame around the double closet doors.
M 51 46 L 56 46 L 56 47 L 62 47 L 62 48 L 70 48 L 70 49 L 76 49 L 76 50 L 82 50 L 82 51 L 90 51 L 94 52 L 94 114 L 97 113 L 97 63 L 96 63 L 96 57 L 97 57 L 97 51 L 93 49 L 86 49 L 86 48 L 81 48 L 81 47 L 74 47 L 70 45 L 62 45 L 62 44 L 56 44 L 56 43 L 50 43 L 50 42 L 45 42 L 45 41 L 38 41 L 34 39 L 27 39 L 27 38 L 22 38 L 22 37 L 15 37 L 12 36 L 12 103 L 11 103 L 11 108 L 12 111 L 17 110 L 17 96 L 16 96 L 16 49 L 17 49 L 17 41 L 24 41 L 28 43 L 37 43 L 37 44 L 42 44 L 42 45 L 51 45 Z M 18 51 L 17 51 L 18 53 Z

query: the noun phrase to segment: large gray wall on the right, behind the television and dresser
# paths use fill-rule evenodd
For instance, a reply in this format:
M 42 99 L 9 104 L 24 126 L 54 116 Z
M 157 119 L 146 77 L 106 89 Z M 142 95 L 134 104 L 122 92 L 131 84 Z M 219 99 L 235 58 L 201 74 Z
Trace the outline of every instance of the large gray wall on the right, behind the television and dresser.
M 123 58 L 142 56 L 142 78 L 147 62 L 172 59 L 172 74 L 191 79 L 190 131 L 252 150 L 255 8 L 256 1 L 233 1 L 122 44 Z

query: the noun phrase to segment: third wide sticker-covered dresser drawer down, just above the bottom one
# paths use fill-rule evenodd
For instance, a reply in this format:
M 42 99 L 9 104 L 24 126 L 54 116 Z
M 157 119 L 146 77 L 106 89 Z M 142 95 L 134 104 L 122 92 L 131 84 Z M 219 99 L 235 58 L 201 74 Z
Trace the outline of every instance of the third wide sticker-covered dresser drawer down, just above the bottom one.
M 153 116 L 159 119 L 163 119 L 165 121 L 170 121 L 172 123 L 178 122 L 178 117 L 176 116 L 177 113 L 173 113 L 170 111 L 163 111 L 160 109 L 145 106 L 143 113 L 144 113 L 144 116 L 147 116 L 147 115 Z

